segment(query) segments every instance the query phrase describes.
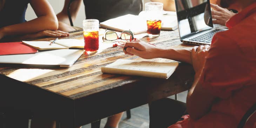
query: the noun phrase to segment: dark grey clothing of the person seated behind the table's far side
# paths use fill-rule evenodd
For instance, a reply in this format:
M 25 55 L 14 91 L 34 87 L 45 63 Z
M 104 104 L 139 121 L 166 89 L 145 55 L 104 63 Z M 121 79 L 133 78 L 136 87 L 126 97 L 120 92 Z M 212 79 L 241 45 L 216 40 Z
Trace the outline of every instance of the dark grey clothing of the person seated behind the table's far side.
M 83 3 L 86 19 L 100 22 L 126 14 L 138 15 L 143 6 L 142 0 L 83 0 Z

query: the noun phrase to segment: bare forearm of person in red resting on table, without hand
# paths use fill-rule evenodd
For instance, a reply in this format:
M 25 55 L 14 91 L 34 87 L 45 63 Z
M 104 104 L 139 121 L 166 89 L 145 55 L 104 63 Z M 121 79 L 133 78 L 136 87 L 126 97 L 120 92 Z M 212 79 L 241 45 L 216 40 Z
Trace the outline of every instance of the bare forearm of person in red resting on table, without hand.
M 192 64 L 191 49 L 185 49 L 185 48 L 159 49 L 159 52 L 157 54 L 159 55 L 158 58 L 166 58 L 166 59 L 171 59 L 179 62 L 186 62 L 186 63 Z

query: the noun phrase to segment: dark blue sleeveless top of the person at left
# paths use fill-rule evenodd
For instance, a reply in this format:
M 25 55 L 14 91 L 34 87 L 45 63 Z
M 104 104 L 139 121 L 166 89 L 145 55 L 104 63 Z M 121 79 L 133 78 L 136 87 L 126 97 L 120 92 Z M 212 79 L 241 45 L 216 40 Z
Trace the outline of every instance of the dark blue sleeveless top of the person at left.
M 0 28 L 26 22 L 28 3 L 28 0 L 6 0 L 4 8 L 0 11 Z

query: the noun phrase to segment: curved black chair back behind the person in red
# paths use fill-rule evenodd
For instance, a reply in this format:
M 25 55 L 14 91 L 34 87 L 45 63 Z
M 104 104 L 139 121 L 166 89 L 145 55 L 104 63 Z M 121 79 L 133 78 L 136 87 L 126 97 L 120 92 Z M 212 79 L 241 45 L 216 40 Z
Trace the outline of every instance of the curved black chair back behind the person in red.
M 237 128 L 243 128 L 246 124 L 246 122 L 250 119 L 250 117 L 255 114 L 256 112 L 256 103 L 254 103 L 254 105 L 247 110 L 247 112 L 244 114 L 244 116 L 242 117 L 241 121 L 239 122 Z

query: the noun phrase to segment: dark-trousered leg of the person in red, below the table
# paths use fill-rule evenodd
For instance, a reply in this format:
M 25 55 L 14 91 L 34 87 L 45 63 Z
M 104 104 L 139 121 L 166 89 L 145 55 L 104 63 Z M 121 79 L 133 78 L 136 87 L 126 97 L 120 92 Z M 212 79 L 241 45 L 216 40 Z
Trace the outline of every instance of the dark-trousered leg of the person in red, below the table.
M 167 128 L 186 112 L 186 103 L 164 98 L 149 105 L 149 128 Z

